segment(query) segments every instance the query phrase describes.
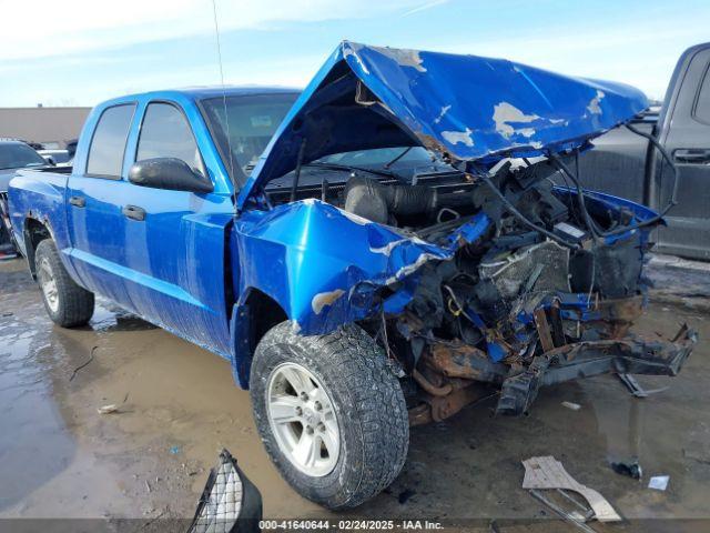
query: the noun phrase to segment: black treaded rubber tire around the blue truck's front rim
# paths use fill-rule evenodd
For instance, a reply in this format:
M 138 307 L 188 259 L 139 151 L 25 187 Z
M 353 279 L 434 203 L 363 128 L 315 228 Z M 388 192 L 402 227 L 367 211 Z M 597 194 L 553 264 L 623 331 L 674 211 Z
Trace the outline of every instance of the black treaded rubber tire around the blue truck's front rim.
M 307 369 L 327 390 L 339 430 L 333 471 L 314 477 L 280 449 L 267 418 L 270 375 L 283 363 Z M 304 336 L 291 322 L 261 340 L 251 368 L 254 420 L 266 452 L 282 476 L 304 497 L 328 509 L 354 507 L 386 489 L 399 474 L 409 445 L 404 394 L 382 349 L 357 325 Z

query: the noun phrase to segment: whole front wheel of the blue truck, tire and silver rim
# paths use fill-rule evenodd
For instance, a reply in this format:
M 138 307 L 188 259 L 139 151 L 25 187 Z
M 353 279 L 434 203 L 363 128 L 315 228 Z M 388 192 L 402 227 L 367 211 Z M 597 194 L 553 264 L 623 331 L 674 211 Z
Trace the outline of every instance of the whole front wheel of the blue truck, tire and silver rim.
M 295 334 L 291 322 L 256 346 L 250 394 L 264 446 L 284 479 L 329 509 L 358 505 L 407 456 L 404 394 L 377 344 L 356 325 Z

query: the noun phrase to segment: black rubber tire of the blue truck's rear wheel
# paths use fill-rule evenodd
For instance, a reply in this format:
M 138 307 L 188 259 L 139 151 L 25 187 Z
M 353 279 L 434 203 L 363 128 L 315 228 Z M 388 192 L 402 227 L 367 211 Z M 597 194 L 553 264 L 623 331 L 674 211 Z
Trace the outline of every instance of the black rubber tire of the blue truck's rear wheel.
M 93 292 L 79 286 L 74 280 L 69 276 L 64 269 L 57 247 L 51 239 L 41 241 L 34 251 L 34 264 L 37 265 L 38 282 L 40 283 L 40 292 L 47 314 L 57 325 L 62 328 L 75 328 L 84 325 L 93 315 L 94 296 Z M 49 265 L 51 274 L 57 284 L 57 304 L 55 309 L 50 305 L 47 294 L 41 290 L 42 273 L 40 269 Z

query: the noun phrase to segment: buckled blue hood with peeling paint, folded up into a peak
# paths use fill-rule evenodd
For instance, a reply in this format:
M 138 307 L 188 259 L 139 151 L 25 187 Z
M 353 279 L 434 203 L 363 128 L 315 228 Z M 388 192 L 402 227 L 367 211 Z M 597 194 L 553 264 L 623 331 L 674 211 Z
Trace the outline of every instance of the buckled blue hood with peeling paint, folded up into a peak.
M 353 150 L 424 145 L 495 164 L 581 145 L 648 107 L 630 86 L 571 78 L 501 59 L 344 41 L 277 129 L 242 189 Z

